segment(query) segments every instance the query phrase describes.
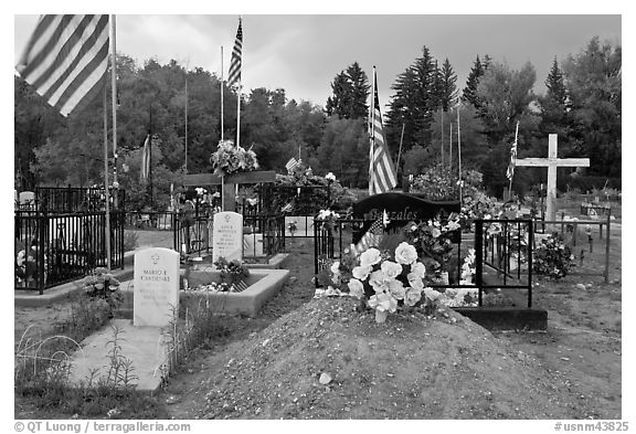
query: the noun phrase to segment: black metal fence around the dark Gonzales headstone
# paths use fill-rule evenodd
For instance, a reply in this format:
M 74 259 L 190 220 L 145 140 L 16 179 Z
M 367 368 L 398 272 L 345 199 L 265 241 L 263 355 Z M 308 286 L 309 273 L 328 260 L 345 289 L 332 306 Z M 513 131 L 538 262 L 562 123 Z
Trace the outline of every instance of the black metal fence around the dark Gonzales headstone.
M 367 222 L 368 223 L 368 222 Z M 453 255 L 456 268 L 449 271 L 453 282 L 431 284 L 432 287 L 477 288 L 478 306 L 484 305 L 484 293 L 494 289 L 520 289 L 527 295 L 527 305 L 532 307 L 532 240 L 531 220 L 476 220 L 473 222 L 474 239 L 458 236 L 454 241 Z M 354 244 L 356 232 L 363 220 L 335 220 L 325 223 L 314 221 L 314 271 L 318 275 L 333 261 L 343 257 L 347 248 Z M 466 235 L 466 234 L 460 234 Z M 475 248 L 474 284 L 462 284 L 462 256 Z M 317 282 L 318 285 L 318 282 Z

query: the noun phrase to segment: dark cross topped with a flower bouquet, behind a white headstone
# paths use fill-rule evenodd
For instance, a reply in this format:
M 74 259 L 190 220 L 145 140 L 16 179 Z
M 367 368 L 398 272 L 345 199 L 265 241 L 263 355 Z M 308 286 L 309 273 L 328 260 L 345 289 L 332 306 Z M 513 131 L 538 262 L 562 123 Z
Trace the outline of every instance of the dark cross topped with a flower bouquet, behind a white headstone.
M 220 177 L 214 173 L 191 173 L 183 178 L 183 187 L 223 186 L 222 204 L 223 211 L 234 211 L 236 208 L 236 184 L 275 182 L 276 172 L 262 170 L 253 172 L 232 173 Z

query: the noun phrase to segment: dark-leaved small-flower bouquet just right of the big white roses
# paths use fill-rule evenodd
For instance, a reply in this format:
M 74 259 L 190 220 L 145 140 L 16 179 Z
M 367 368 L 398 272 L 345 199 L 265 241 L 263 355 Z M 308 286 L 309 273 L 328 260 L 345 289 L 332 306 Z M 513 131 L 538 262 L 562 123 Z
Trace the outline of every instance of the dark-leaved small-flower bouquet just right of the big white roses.
M 453 267 L 454 242 L 460 236 L 459 214 L 452 213 L 446 221 L 439 216 L 414 223 L 405 227 L 407 241 L 417 251 L 417 256 L 430 271 L 428 277 L 437 284 L 448 284 Z M 456 264 L 455 264 L 456 265 Z

